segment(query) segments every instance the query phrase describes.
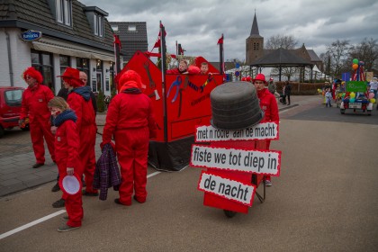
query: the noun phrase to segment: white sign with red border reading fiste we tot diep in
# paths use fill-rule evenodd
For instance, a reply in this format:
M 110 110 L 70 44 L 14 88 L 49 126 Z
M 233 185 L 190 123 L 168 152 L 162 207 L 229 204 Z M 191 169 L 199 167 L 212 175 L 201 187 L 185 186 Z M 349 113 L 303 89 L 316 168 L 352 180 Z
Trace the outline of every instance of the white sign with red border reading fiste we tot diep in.
M 212 148 L 193 144 L 190 165 L 278 176 L 281 151 Z

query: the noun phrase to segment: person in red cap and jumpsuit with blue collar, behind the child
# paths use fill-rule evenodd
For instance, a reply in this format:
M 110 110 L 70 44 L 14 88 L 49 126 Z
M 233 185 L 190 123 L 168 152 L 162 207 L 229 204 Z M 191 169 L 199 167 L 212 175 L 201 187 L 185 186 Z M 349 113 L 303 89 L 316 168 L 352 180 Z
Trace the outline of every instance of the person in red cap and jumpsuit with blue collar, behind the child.
M 97 196 L 93 188 L 95 162 L 93 162 L 95 134 L 94 107 L 91 100 L 91 88 L 80 80 L 79 70 L 67 67 L 63 73 L 63 85 L 68 89 L 67 103 L 77 116 L 76 129 L 80 138 L 79 157 L 84 166 L 85 196 Z

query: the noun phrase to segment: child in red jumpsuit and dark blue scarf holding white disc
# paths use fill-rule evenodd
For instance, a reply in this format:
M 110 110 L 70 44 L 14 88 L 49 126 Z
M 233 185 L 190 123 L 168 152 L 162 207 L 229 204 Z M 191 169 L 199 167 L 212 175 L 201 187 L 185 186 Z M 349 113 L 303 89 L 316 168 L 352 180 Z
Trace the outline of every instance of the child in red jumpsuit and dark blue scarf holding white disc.
M 79 137 L 76 130 L 76 114 L 69 109 L 62 97 L 55 97 L 49 101 L 49 109 L 54 117 L 53 124 L 57 127 L 55 133 L 55 155 L 59 171 L 59 184 L 66 175 L 74 175 L 81 178 L 83 166 L 79 160 Z M 81 179 L 78 179 L 81 184 Z M 81 185 L 80 185 L 81 187 Z M 62 198 L 65 200 L 67 215 L 64 220 L 67 223 L 58 227 L 59 232 L 65 232 L 81 227 L 83 219 L 82 194 L 68 194 L 64 190 Z

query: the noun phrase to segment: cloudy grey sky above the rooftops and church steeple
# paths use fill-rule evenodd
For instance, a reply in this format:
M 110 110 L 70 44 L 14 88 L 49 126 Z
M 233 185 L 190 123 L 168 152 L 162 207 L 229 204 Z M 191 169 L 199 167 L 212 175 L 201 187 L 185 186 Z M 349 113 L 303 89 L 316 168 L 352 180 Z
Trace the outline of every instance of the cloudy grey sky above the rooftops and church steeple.
M 274 35 L 293 35 L 320 56 L 335 40 L 356 44 L 378 39 L 376 0 L 79 0 L 107 12 L 111 22 L 146 22 L 148 50 L 159 21 L 166 27 L 166 47 L 175 53 L 175 40 L 185 55 L 219 61 L 217 41 L 224 34 L 224 58 L 246 58 L 246 39 L 257 14 L 265 42 Z M 157 51 L 155 49 L 154 51 Z

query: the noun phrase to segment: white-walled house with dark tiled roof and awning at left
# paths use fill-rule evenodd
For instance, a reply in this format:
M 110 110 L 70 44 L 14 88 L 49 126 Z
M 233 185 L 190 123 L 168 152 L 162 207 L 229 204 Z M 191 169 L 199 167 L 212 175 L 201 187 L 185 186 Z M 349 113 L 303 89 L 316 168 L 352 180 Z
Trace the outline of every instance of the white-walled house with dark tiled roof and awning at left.
M 87 73 L 94 92 L 111 94 L 113 36 L 105 11 L 76 0 L 0 3 L 0 85 L 25 87 L 23 70 L 33 66 L 58 94 L 57 76 L 75 67 Z

